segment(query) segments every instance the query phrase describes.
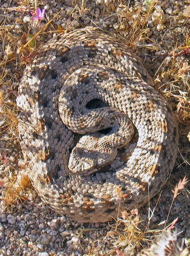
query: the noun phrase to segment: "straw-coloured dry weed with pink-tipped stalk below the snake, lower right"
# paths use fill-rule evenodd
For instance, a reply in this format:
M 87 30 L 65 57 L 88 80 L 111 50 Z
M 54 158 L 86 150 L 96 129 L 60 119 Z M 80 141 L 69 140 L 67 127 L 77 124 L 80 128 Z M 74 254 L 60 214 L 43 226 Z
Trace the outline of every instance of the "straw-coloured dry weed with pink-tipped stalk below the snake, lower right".
M 159 239 L 162 239 L 163 236 L 166 236 L 166 233 L 168 233 L 168 234 L 170 233 L 170 236 L 169 235 L 166 236 L 166 237 L 168 237 L 168 240 L 171 238 L 171 236 L 173 234 L 173 233 L 171 233 L 171 230 L 174 229 L 175 223 L 178 221 L 178 219 L 175 219 L 174 221 L 172 221 L 172 223 L 167 225 L 170 211 L 172 209 L 174 199 L 176 199 L 176 197 L 180 194 L 181 190 L 183 190 L 185 188 L 185 185 L 187 183 L 188 183 L 188 180 L 186 177 L 184 177 L 183 180 L 180 180 L 178 182 L 178 184 L 176 185 L 174 190 L 172 190 L 172 193 L 174 193 L 174 197 L 173 197 L 172 203 L 170 205 L 170 209 L 168 211 L 167 219 L 165 221 L 162 221 L 158 225 L 156 225 L 153 229 L 150 228 L 150 221 L 151 221 L 152 217 L 154 216 L 154 211 L 156 209 L 158 202 L 157 202 L 156 206 L 154 207 L 154 209 L 152 211 L 150 210 L 151 214 L 149 214 L 149 219 L 148 219 L 147 224 L 145 223 L 145 221 L 141 220 L 137 209 L 133 209 L 130 214 L 127 211 L 123 211 L 121 213 L 121 218 L 118 218 L 115 221 L 115 227 L 112 228 L 112 231 L 108 232 L 108 236 L 111 236 L 111 237 L 117 236 L 118 237 L 117 241 L 114 244 L 115 253 L 117 256 L 125 256 L 125 255 L 133 256 L 133 255 L 135 255 L 135 253 L 137 253 L 137 251 L 140 248 L 145 249 L 147 246 L 150 246 L 153 238 L 157 238 L 157 240 L 158 240 L 157 244 L 159 244 L 159 241 L 160 241 Z M 158 201 L 159 201 L 159 199 L 158 199 Z M 164 225 L 164 227 L 163 227 L 163 225 Z M 162 227 L 162 229 L 159 228 L 160 226 Z M 172 240 L 171 240 L 171 242 L 172 242 Z M 178 248 L 177 239 L 175 240 L 175 242 L 176 243 L 174 243 L 174 244 L 175 244 L 176 248 Z M 168 242 L 168 244 L 167 244 L 167 242 L 166 242 L 166 246 L 168 246 L 168 248 L 170 248 L 171 243 Z M 165 249 L 167 249 L 167 248 L 165 248 Z M 156 254 L 153 254 L 154 249 L 150 248 L 150 252 L 151 252 L 151 250 L 152 250 L 152 254 L 147 254 L 147 255 L 156 255 Z M 180 250 L 181 250 L 181 252 L 183 251 L 183 246 Z M 185 250 L 184 252 L 187 253 L 188 251 Z M 148 250 L 147 250 L 147 253 L 148 253 Z M 161 255 L 164 256 L 164 254 L 160 254 L 160 256 Z M 173 255 L 173 254 L 168 254 L 168 255 Z M 176 255 L 178 255 L 178 254 L 176 254 Z M 184 254 L 184 255 L 188 255 L 188 254 Z

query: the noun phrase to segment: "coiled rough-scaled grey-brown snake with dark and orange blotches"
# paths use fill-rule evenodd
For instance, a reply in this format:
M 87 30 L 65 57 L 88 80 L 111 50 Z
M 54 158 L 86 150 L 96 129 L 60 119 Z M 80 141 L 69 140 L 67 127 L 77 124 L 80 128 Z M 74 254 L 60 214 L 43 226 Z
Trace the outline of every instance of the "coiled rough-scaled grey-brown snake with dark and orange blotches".
M 77 221 L 140 207 L 174 167 L 178 125 L 166 99 L 125 42 L 92 27 L 38 49 L 17 105 L 34 188 Z

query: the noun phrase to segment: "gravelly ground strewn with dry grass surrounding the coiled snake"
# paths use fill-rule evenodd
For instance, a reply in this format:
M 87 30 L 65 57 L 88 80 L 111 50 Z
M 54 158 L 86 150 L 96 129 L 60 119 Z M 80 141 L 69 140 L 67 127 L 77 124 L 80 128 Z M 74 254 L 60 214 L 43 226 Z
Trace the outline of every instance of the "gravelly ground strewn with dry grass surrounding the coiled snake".
M 81 4 L 82 2 L 82 4 Z M 29 45 L 38 48 L 57 34 L 56 30 L 73 30 L 92 25 L 104 33 L 122 37 L 144 61 L 154 77 L 155 87 L 171 103 L 180 120 L 180 154 L 176 167 L 162 190 L 160 201 L 150 221 L 150 228 L 168 215 L 173 194 L 171 190 L 185 175 L 188 175 L 188 1 L 38 1 L 45 8 L 46 16 L 41 23 L 31 20 L 29 10 L 34 10 L 33 1 L 1 1 L 0 9 L 0 192 L 6 198 L 7 188 L 15 180 L 22 164 L 18 131 L 17 111 L 14 106 L 18 84 L 26 60 L 32 54 L 28 47 L 18 52 L 40 27 L 59 12 L 50 25 Z M 25 7 L 23 6 L 25 4 Z M 30 33 L 28 37 L 28 31 Z M 51 33 L 48 33 L 51 31 Z M 33 44 L 33 45 L 32 45 Z M 183 48 L 180 48 L 183 47 Z M 6 111 L 5 111 L 6 110 Z M 180 166 L 180 167 L 179 167 Z M 179 167 L 179 168 L 178 168 Z M 150 202 L 154 209 L 159 195 Z M 178 217 L 176 223 L 179 240 L 190 238 L 187 190 L 183 190 L 171 209 L 168 223 Z M 138 255 L 142 247 L 127 251 L 127 240 L 114 233 L 115 221 L 100 224 L 81 224 L 60 216 L 42 203 L 32 186 L 20 191 L 19 199 L 5 210 L 2 200 L 0 213 L 0 255 Z M 148 205 L 139 210 L 145 223 Z M 157 227 L 158 228 L 158 227 Z M 160 229 L 163 225 L 159 226 Z M 121 233 L 121 231 L 118 231 Z M 111 235 L 113 234 L 114 235 Z M 116 249 L 116 246 L 119 249 Z M 139 255 L 140 252 L 139 252 Z

